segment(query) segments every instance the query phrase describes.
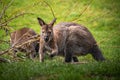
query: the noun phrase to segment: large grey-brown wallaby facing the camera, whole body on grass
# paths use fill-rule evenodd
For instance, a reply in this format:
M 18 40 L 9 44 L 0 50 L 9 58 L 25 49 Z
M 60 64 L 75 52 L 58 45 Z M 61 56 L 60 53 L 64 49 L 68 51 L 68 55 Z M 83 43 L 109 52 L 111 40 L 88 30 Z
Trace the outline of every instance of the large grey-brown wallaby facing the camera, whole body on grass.
M 65 56 L 65 62 L 78 62 L 77 55 L 86 55 L 90 53 L 97 61 L 103 61 L 105 58 L 96 44 L 95 39 L 89 30 L 76 23 L 62 22 L 54 25 L 56 19 L 51 23 L 45 23 L 41 18 L 37 18 L 41 26 L 40 38 L 40 61 L 44 61 L 44 50 L 51 50 L 51 57 L 55 55 Z

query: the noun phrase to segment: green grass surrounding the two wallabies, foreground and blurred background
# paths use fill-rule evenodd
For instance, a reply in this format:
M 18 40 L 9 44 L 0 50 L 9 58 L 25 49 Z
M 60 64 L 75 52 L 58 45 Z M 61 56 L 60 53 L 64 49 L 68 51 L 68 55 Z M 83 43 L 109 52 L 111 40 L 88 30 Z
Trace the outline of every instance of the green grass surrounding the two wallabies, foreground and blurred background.
M 4 0 L 3 0 L 4 1 Z M 7 4 L 9 0 L 4 1 Z M 22 3 L 21 3 L 22 2 Z M 119 0 L 93 0 L 87 10 L 89 0 L 46 0 L 54 10 L 59 22 L 76 22 L 85 25 L 93 34 L 103 55 L 105 62 L 96 62 L 91 55 L 78 57 L 85 64 L 67 64 L 61 57 L 50 60 L 46 57 L 44 63 L 38 59 L 31 61 L 22 59 L 12 63 L 0 63 L 0 80 L 118 80 L 120 76 L 120 1 Z M 28 4 L 29 3 L 29 4 Z M 34 3 L 38 3 L 33 6 Z M 0 5 L 0 10 L 2 6 Z M 30 27 L 37 33 L 40 26 L 37 17 L 46 22 L 53 19 L 50 8 L 42 0 L 14 0 L 7 10 L 7 16 L 21 12 L 26 14 L 9 23 L 10 32 L 22 27 Z M 76 19 L 74 21 L 74 19 Z M 9 40 L 9 35 L 0 30 L 0 39 Z M 9 48 L 8 44 L 0 43 L 0 50 Z M 11 59 L 6 54 L 1 57 Z

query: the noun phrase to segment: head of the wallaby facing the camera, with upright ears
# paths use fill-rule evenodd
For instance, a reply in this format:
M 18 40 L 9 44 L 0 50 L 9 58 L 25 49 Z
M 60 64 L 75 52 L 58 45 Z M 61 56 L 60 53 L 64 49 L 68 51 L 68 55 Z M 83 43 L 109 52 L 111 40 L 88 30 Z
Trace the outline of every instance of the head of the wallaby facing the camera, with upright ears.
M 53 25 L 56 22 L 56 18 L 49 24 L 45 23 L 41 18 L 37 18 L 41 26 L 41 38 L 45 42 L 49 42 L 53 38 Z

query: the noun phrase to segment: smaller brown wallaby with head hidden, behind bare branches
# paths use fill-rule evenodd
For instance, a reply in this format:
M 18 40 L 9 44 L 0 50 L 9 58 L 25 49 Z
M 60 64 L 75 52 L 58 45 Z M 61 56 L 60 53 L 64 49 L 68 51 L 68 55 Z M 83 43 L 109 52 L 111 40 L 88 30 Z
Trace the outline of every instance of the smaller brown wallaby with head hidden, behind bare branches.
M 26 42 L 27 40 L 30 39 L 30 37 L 35 36 L 36 33 L 34 32 L 34 30 L 30 29 L 30 28 L 22 28 L 19 30 L 16 30 L 14 32 L 12 32 L 10 34 L 10 44 L 11 47 L 20 45 L 24 42 Z M 39 43 L 38 41 L 35 41 L 33 43 L 28 43 L 23 45 L 20 48 L 14 48 L 14 57 L 16 57 L 16 52 L 19 50 L 21 52 L 27 52 L 26 56 L 33 59 L 34 56 L 36 55 L 36 52 L 38 52 L 39 49 Z

